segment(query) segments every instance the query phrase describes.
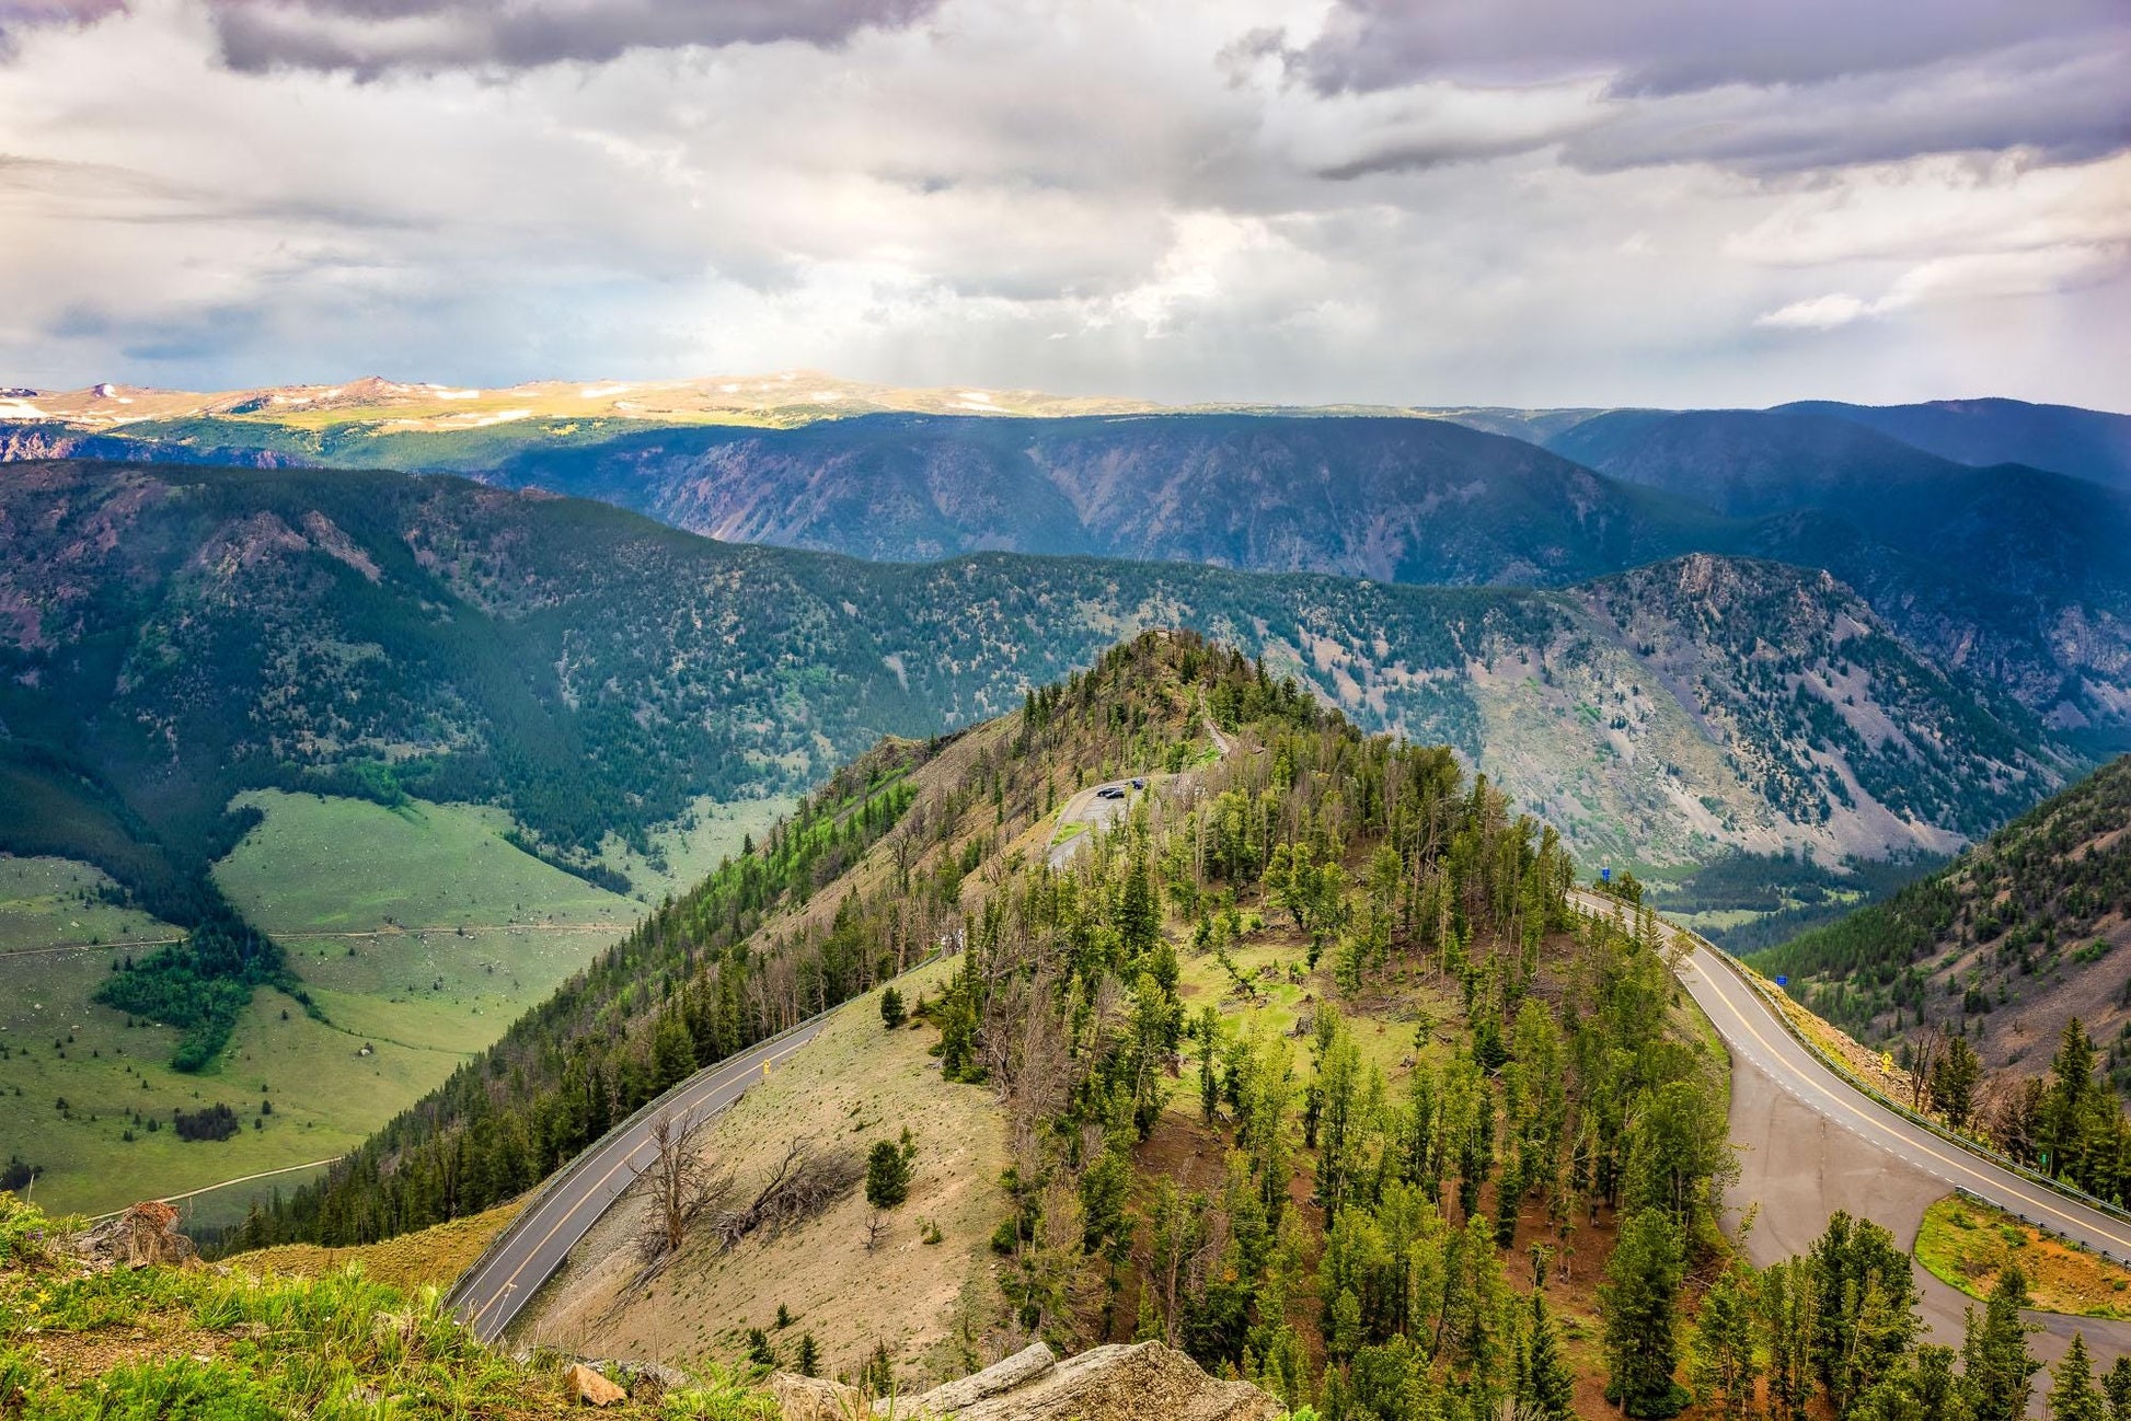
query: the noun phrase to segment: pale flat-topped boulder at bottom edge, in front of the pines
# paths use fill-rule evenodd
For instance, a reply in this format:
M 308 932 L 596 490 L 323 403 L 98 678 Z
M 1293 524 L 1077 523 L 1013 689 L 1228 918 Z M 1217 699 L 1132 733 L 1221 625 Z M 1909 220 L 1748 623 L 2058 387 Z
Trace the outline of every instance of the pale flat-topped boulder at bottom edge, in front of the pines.
M 1053 1366 L 1036 1349 L 1014 1353 L 959 1383 L 897 1402 L 897 1417 L 955 1421 L 1276 1421 L 1287 1412 L 1251 1383 L 1215 1381 L 1195 1361 L 1161 1342 L 1095 1346 Z M 1048 1355 L 1048 1353 L 1046 1353 Z M 995 1387 L 993 1372 L 1016 1368 L 1019 1383 Z M 974 1383 L 974 1385 L 972 1385 Z M 963 1389 L 950 1393 L 950 1389 Z M 955 1398 L 967 1400 L 955 1400 Z

